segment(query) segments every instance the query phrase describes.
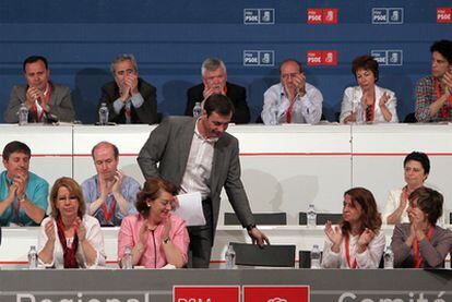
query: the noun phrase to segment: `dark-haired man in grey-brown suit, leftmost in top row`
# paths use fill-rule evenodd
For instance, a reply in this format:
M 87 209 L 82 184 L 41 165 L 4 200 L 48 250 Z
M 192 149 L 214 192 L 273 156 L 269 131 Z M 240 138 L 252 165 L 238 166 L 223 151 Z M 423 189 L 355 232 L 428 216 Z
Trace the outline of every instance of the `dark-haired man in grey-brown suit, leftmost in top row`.
M 72 122 L 75 117 L 68 86 L 49 81 L 50 70 L 47 59 L 32 56 L 23 63 L 26 85 L 14 86 L 10 104 L 4 112 L 4 121 L 16 123 L 21 104 L 28 109 L 28 122 L 62 121 Z

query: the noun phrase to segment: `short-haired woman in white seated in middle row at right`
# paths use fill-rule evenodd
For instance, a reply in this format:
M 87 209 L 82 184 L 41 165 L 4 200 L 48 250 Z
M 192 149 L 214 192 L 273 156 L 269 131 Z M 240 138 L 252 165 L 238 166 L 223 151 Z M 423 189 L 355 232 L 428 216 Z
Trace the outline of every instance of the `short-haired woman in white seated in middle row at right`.
M 404 161 L 404 177 L 406 185 L 390 191 L 386 205 L 383 210 L 383 224 L 396 225 L 408 222 L 408 196 L 418 188 L 424 186 L 424 182 L 430 172 L 430 160 L 425 153 L 412 152 Z

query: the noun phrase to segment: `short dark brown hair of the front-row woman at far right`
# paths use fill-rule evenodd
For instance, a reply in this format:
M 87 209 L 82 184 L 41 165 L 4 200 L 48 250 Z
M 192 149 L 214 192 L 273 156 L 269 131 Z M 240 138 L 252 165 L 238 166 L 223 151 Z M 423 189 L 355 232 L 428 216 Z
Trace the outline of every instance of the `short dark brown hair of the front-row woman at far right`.
M 417 202 L 417 207 L 427 215 L 427 220 L 435 226 L 442 215 L 444 197 L 438 191 L 430 188 L 418 188 L 409 194 L 409 202 Z

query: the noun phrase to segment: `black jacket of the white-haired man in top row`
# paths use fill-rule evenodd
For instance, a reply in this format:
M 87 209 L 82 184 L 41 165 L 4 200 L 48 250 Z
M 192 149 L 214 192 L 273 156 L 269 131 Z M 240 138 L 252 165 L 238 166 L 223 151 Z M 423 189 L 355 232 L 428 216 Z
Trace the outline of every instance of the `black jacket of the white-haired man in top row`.
M 247 90 L 239 85 L 231 84 L 226 82 L 227 97 L 234 104 L 235 112 L 233 119 L 230 120 L 233 123 L 249 123 L 250 122 L 250 109 L 248 108 L 247 104 Z M 203 100 L 203 92 L 204 92 L 204 84 L 199 84 L 193 86 L 187 90 L 187 107 L 186 107 L 186 116 L 193 117 L 193 107 L 197 101 L 201 102 Z

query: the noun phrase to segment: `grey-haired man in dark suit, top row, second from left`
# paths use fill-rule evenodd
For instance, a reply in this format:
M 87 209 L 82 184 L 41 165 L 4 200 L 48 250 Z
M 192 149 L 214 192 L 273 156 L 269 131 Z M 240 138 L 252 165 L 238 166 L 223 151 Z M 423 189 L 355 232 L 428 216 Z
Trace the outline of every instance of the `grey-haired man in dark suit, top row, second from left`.
M 119 55 L 110 65 L 115 81 L 102 87 L 98 107 L 105 102 L 109 121 L 157 123 L 157 89 L 139 77 L 133 55 Z

